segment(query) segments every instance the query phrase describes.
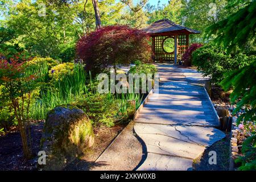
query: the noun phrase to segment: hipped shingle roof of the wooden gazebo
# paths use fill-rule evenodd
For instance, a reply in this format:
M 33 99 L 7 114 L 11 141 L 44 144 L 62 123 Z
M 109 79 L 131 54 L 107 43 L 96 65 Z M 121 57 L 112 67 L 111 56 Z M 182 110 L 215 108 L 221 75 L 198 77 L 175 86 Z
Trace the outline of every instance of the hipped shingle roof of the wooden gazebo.
M 150 26 L 143 28 L 148 34 L 163 34 L 163 33 L 173 33 L 178 34 L 183 32 L 186 34 L 200 34 L 200 31 L 193 30 L 172 22 L 169 19 L 161 19 L 152 23 Z

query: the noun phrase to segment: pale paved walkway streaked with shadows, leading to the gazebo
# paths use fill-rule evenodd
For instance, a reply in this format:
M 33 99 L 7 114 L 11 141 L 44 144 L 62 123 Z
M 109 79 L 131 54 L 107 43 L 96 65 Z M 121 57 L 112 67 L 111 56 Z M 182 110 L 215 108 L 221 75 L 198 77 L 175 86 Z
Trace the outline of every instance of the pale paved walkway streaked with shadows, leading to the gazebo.
M 203 86 L 207 78 L 193 69 L 158 64 L 159 94 L 152 94 L 135 119 L 134 131 L 146 144 L 138 170 L 191 170 L 205 147 L 225 137 Z

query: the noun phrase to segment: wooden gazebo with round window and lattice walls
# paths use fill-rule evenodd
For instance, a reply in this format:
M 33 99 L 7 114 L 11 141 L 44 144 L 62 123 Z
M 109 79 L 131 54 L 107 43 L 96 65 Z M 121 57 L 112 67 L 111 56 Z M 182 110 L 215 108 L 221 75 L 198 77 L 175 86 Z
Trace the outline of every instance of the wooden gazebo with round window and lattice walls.
M 143 29 L 152 38 L 152 52 L 155 61 L 180 60 L 188 48 L 189 34 L 200 34 L 193 30 L 176 24 L 168 19 L 161 19 Z M 165 47 L 167 44 L 168 49 Z

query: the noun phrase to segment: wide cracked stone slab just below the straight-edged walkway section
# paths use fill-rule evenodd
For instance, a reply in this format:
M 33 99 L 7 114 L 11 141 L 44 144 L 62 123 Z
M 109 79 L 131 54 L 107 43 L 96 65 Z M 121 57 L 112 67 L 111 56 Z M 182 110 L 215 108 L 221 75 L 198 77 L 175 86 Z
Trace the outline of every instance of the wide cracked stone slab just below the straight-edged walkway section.
M 213 143 L 225 137 L 225 134 L 214 127 L 201 126 L 171 126 L 135 123 L 134 130 L 138 135 L 155 135 L 155 140 L 161 140 L 168 136 L 174 139 L 198 144 L 200 146 L 211 146 Z

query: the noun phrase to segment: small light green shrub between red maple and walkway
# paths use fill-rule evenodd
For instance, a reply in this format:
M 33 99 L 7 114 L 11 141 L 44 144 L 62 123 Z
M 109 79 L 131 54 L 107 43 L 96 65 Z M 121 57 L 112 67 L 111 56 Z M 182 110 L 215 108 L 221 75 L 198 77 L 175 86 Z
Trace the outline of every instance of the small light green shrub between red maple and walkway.
M 135 61 L 135 67 L 131 67 L 129 73 L 151 73 L 154 75 L 158 69 L 155 67 L 154 64 L 147 64 L 147 63 L 142 63 L 141 61 Z

